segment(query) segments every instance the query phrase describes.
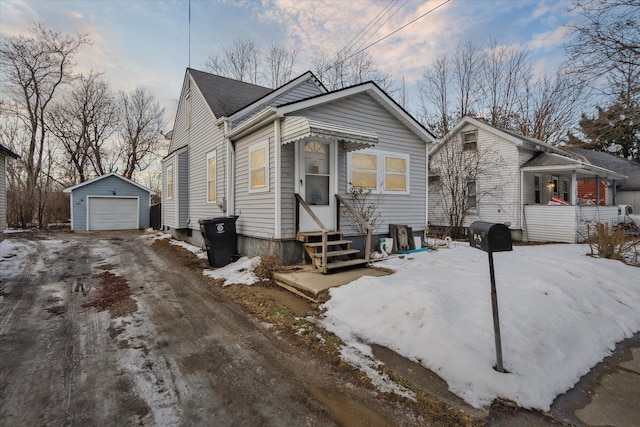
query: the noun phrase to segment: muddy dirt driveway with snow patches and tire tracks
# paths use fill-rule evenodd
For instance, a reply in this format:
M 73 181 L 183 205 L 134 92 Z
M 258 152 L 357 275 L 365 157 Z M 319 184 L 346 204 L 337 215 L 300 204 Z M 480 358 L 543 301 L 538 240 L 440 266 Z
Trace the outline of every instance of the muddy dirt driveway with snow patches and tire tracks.
M 0 262 L 2 425 L 425 424 L 253 320 L 144 233 L 11 242 L 29 255 Z M 126 280 L 137 310 L 86 307 L 105 277 Z

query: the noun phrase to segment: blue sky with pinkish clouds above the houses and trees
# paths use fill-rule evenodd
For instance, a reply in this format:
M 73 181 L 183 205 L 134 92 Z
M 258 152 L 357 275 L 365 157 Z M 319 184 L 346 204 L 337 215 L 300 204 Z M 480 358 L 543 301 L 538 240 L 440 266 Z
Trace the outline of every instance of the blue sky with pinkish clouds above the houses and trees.
M 88 34 L 92 44 L 76 57 L 76 70 L 100 70 L 116 90 L 148 89 L 171 123 L 185 68 L 204 70 L 207 58 L 235 39 L 252 38 L 265 49 L 272 42 L 299 48 L 301 74 L 310 68 L 314 51 L 343 48 L 386 7 L 395 14 L 379 21 L 364 46 L 424 15 L 367 50 L 381 69 L 404 76 L 414 100 L 411 90 L 422 70 L 459 42 L 494 38 L 520 45 L 530 50 L 539 72 L 555 71 L 571 21 L 569 5 L 568 0 L 191 0 L 189 14 L 187 0 L 1 0 L 0 33 L 26 35 L 42 22 L 56 31 Z

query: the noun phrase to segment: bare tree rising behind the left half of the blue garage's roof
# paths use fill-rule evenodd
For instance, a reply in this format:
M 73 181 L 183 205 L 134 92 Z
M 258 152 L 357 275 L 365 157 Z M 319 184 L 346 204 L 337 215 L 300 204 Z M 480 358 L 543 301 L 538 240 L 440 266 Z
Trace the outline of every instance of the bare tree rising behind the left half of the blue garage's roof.
M 119 117 L 115 97 L 100 73 L 80 75 L 73 90 L 48 117 L 49 129 L 66 153 L 64 163 L 72 169 L 71 183 L 114 169 L 108 141 L 117 130 Z

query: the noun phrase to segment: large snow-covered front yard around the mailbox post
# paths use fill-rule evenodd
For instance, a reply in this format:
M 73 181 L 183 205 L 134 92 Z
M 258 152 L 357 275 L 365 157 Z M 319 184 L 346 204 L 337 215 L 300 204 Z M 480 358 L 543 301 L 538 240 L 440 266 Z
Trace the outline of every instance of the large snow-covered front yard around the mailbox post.
M 496 397 L 549 410 L 617 342 L 640 330 L 640 268 L 584 245 L 494 255 L 502 352 L 496 363 L 487 254 L 467 244 L 392 258 L 385 277 L 331 289 L 322 325 L 365 356 L 389 347 L 438 373 L 469 404 Z

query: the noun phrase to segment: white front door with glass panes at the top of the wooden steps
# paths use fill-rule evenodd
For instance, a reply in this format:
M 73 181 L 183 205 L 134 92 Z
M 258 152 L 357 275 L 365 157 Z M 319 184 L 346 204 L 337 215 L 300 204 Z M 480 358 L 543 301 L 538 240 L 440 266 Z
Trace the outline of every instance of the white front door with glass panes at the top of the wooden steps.
M 299 152 L 298 192 L 327 230 L 334 230 L 336 143 L 302 141 Z M 300 231 L 320 231 L 320 227 L 303 207 L 300 207 Z

